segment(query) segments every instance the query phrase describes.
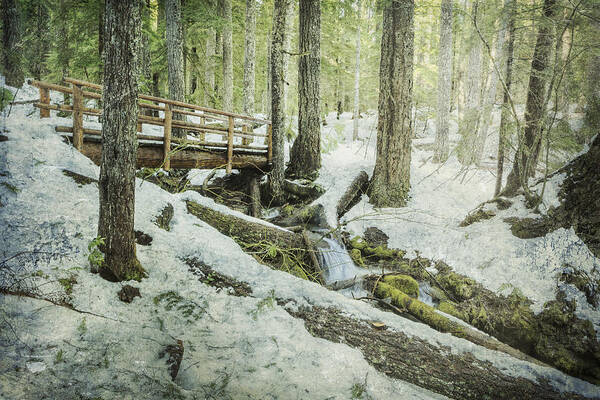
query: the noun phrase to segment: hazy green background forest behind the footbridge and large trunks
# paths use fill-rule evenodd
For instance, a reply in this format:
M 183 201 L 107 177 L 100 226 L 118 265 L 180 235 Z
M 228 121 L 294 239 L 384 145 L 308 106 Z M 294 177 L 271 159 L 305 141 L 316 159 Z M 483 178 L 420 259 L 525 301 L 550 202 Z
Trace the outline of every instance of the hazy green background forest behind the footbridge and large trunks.
M 3 2 L 3 15 L 14 1 Z M 249 113 L 269 114 L 269 56 L 273 2 L 232 0 L 231 20 L 223 16 L 222 4 L 210 0 L 182 2 L 185 98 L 187 101 L 224 109 L 222 33 L 229 24 L 233 32 L 233 105 L 232 111 L 244 111 L 244 49 L 246 9 L 255 7 L 256 55 L 254 107 Z M 248 4 L 246 4 L 248 3 Z M 322 114 L 353 111 L 355 82 L 358 74 L 360 112 L 377 109 L 379 57 L 381 48 L 381 4 L 372 0 L 321 2 L 321 108 Z M 598 76 L 598 3 L 595 0 L 561 0 L 560 11 L 548 21 L 542 16 L 542 1 L 457 1 L 451 13 L 451 109 L 450 118 L 462 124 L 460 133 L 466 146 L 478 130 L 485 130 L 493 105 L 502 103 L 501 82 L 494 77 L 494 63 L 502 69 L 506 59 L 505 32 L 507 13 L 514 29 L 512 63 L 512 102 L 525 104 L 531 60 L 538 28 L 553 26 L 554 47 L 545 94 L 554 112 L 546 121 L 550 128 L 548 159 L 550 170 L 561 166 L 593 136 L 587 127 L 598 117 L 589 112 L 588 120 L 567 122 L 569 114 L 579 114 L 597 101 Z M 286 113 L 297 115 L 298 10 L 292 2 L 286 36 L 288 58 L 286 74 Z M 438 93 L 438 52 L 441 1 L 415 3 L 414 100 L 415 135 L 435 126 Z M 19 40 L 4 41 L 3 51 L 18 58 L 22 74 L 60 82 L 64 76 L 100 82 L 103 46 L 103 1 L 39 0 L 16 1 Z M 503 20 L 505 16 L 505 20 Z M 145 2 L 143 15 L 143 74 L 141 92 L 168 96 L 167 47 L 165 40 L 164 1 Z M 360 44 L 360 48 L 357 49 Z M 358 57 L 358 58 L 357 58 Z M 358 61 L 358 62 L 357 62 Z M 450 62 L 446 60 L 444 63 Z M 358 71 L 357 71 L 358 70 Z M 447 72 L 447 71 L 444 71 Z M 475 111 L 473 111 L 475 110 Z M 523 110 L 521 109 L 520 112 Z M 575 116 L 577 117 L 577 116 Z M 577 118 L 575 118 L 577 120 Z M 287 119 L 288 134 L 293 119 Z M 514 124 L 509 120 L 508 123 Z M 575 126 L 573 125 L 575 124 Z M 573 129 L 575 128 L 575 129 Z M 509 134 L 514 129 L 509 129 Z M 510 136 L 510 135 L 509 135 Z M 513 141 L 515 140 L 512 135 Z M 544 146 L 546 147 L 546 146 Z M 457 149 L 461 151 L 461 147 Z M 489 151 L 492 156 L 492 152 Z M 495 154 L 493 155 L 495 156 Z M 465 164 L 480 162 L 460 157 Z M 495 157 L 494 157 L 495 158 Z M 541 157 L 544 160 L 545 157 Z

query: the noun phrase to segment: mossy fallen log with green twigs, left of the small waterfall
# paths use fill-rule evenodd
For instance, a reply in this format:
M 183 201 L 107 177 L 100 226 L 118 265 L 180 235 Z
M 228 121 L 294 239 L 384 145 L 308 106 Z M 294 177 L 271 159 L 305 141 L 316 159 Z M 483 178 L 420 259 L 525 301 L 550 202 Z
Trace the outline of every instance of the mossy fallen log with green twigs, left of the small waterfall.
M 315 270 L 310 255 L 314 250 L 306 245 L 302 235 L 221 213 L 193 201 L 187 201 L 187 209 L 190 214 L 231 237 L 259 262 L 304 279 L 321 282 L 320 273 Z

